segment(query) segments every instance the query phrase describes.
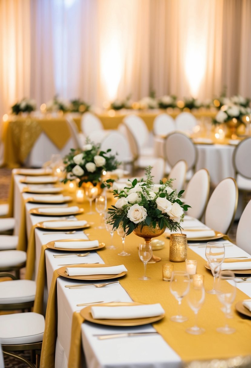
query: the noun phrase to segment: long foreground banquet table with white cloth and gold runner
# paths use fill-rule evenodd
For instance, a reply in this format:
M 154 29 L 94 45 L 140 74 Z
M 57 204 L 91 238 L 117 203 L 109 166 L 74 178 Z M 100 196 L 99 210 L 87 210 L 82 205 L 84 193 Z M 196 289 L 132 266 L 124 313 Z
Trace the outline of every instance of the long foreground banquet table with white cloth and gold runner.
M 15 200 L 20 201 L 31 197 L 31 194 L 22 193 L 25 184 L 20 183 L 22 176 L 15 175 Z M 109 193 L 107 193 L 108 195 Z M 108 206 L 113 199 L 109 199 Z M 75 202 L 73 202 L 75 204 Z M 72 205 L 72 204 L 69 204 Z M 40 221 L 51 220 L 52 217 L 34 216 L 29 213 L 31 208 L 42 207 L 35 203 L 25 203 L 26 210 L 26 226 L 28 232 L 31 231 L 32 225 Z M 48 206 L 48 205 L 46 205 Z M 54 206 L 54 205 L 53 205 Z M 38 263 L 40 250 L 43 244 L 49 241 L 59 239 L 77 239 L 87 238 L 103 241 L 106 245 L 110 243 L 110 235 L 106 230 L 95 229 L 99 225 L 99 215 L 88 215 L 89 203 L 81 204 L 85 209 L 85 213 L 78 216 L 78 219 L 86 219 L 91 227 L 83 231 L 78 230 L 75 234 L 49 234 L 45 235 L 44 229 L 35 228 L 35 277 L 38 272 Z M 20 205 L 21 208 L 21 205 Z M 16 214 L 17 215 L 17 214 Z M 57 219 L 54 217 L 53 219 Z M 134 326 L 129 328 L 96 325 L 91 322 L 84 322 L 81 325 L 82 336 L 82 366 L 85 364 L 88 368 L 108 368 L 108 367 L 156 367 L 156 368 L 173 368 L 181 367 L 184 361 L 204 360 L 213 358 L 228 358 L 236 355 L 250 355 L 251 347 L 250 328 L 251 320 L 244 316 L 238 315 L 233 311 L 233 319 L 230 324 L 234 324 L 237 332 L 233 335 L 220 335 L 216 332 L 216 328 L 223 325 L 224 316 L 220 310 L 221 306 L 216 296 L 206 294 L 205 304 L 199 311 L 199 325 L 206 328 L 204 335 L 193 336 L 185 332 L 185 328 L 194 322 L 193 312 L 188 308 L 184 298 L 182 312 L 189 317 L 184 323 L 175 323 L 169 320 L 170 316 L 177 312 L 177 301 L 170 294 L 169 283 L 162 281 L 162 264 L 169 262 L 169 241 L 161 237 L 165 241 L 165 248 L 158 251 L 158 255 L 162 258 L 161 262 L 149 264 L 147 266 L 147 274 L 152 279 L 149 281 L 138 280 L 143 274 L 143 264 L 139 260 L 137 245 L 141 241 L 134 234 L 131 234 L 125 240 L 125 250 L 131 255 L 121 257 L 117 255 L 121 249 L 121 238 L 115 233 L 114 244 L 116 250 L 103 248 L 100 251 L 92 251 L 85 261 L 81 257 L 54 258 L 55 250 L 45 250 L 46 260 L 46 277 L 47 289 L 50 290 L 53 272 L 61 267 L 61 264 L 74 263 L 106 263 L 112 265 L 124 264 L 128 269 L 127 275 L 121 277 L 119 283 L 111 284 L 104 288 L 88 287 L 86 289 L 69 290 L 64 286 L 67 284 L 79 284 L 78 280 L 69 280 L 65 277 L 58 277 L 57 284 L 57 343 L 55 355 L 55 367 L 64 368 L 68 365 L 70 354 L 71 340 L 71 324 L 73 313 L 79 311 L 82 307 L 77 307 L 78 303 L 94 302 L 94 301 L 123 301 L 123 302 L 142 302 L 156 303 L 160 302 L 165 309 L 165 318 L 154 325 Z M 212 287 L 213 277 L 209 271 L 204 268 L 205 248 L 197 246 L 188 247 L 188 258 L 198 261 L 198 273 L 205 275 L 205 288 L 209 290 Z M 240 250 L 235 245 L 226 247 L 226 256 L 233 255 L 236 252 L 238 256 L 249 256 L 246 252 Z M 62 252 L 60 251 L 60 254 Z M 235 255 L 236 256 L 236 255 Z M 184 270 L 185 263 L 174 263 L 175 270 Z M 248 283 L 238 283 L 238 292 L 236 301 L 244 300 L 251 297 L 251 288 Z M 234 309 L 234 308 L 233 308 Z M 48 311 L 47 311 L 48 313 Z M 120 339 L 98 340 L 96 334 L 131 332 L 131 331 L 154 331 L 158 334 L 142 337 L 124 337 Z M 75 367 L 69 364 L 69 367 Z M 41 368 L 47 368 L 42 367 Z

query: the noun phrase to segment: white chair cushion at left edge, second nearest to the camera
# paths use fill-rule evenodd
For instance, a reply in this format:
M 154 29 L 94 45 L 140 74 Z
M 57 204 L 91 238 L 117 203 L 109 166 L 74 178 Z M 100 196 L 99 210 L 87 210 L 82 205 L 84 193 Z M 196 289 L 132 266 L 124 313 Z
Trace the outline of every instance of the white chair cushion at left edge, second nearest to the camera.
M 25 303 L 33 301 L 36 282 L 32 280 L 11 280 L 0 282 L 0 304 Z

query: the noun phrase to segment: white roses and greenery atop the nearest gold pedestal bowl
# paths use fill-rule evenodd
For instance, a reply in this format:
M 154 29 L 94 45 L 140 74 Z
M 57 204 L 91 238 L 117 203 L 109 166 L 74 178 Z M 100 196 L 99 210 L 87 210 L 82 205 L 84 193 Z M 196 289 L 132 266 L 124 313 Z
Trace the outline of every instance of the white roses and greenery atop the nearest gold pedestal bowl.
M 180 200 L 184 190 L 179 193 L 173 190 L 173 179 L 153 184 L 151 169 L 149 166 L 145 170 L 145 182 L 129 180 L 129 185 L 123 190 L 113 190 L 118 199 L 116 204 L 109 208 L 108 213 L 114 229 L 122 225 L 127 235 L 135 232 L 137 228 L 142 230 L 144 226 L 151 226 L 153 229 L 158 227 L 163 231 L 166 227 L 171 231 L 181 230 L 184 211 L 190 207 L 183 205 Z

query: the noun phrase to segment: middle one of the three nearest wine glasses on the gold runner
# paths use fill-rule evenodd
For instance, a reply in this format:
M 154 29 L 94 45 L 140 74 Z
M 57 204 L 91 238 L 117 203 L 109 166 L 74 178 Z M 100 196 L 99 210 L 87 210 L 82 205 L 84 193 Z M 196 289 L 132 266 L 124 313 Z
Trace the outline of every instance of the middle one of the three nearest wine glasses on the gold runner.
M 204 328 L 198 327 L 197 325 L 198 311 L 204 303 L 204 300 L 205 289 L 203 279 L 201 278 L 201 275 L 194 275 L 190 282 L 189 293 L 187 294 L 187 302 L 192 311 L 194 311 L 195 322 L 194 326 L 186 329 L 186 332 L 191 333 L 192 335 L 201 335 L 201 333 L 205 332 Z

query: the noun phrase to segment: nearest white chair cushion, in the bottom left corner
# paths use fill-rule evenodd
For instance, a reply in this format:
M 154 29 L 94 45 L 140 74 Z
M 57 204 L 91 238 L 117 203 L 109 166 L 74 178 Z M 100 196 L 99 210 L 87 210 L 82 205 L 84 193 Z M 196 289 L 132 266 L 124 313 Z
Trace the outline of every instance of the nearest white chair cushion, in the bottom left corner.
M 1 344 L 30 344 L 42 342 L 45 318 L 41 314 L 27 312 L 0 316 Z

